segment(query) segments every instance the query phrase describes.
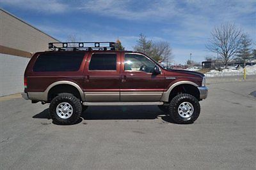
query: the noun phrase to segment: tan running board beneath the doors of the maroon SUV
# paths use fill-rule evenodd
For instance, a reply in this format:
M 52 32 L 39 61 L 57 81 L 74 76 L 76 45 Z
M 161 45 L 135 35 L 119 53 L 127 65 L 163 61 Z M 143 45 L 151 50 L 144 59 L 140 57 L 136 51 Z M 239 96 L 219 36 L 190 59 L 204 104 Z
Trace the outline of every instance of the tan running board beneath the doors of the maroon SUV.
M 84 106 L 134 106 L 134 105 L 163 105 L 163 102 L 83 102 Z

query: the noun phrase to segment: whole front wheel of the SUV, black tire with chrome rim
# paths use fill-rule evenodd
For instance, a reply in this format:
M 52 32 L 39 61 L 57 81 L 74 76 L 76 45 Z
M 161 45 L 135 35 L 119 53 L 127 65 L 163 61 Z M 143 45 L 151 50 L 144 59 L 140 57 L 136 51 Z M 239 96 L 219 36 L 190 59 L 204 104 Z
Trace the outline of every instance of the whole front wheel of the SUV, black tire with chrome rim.
M 190 94 L 175 96 L 168 109 L 170 117 L 177 124 L 193 124 L 200 115 L 198 99 Z

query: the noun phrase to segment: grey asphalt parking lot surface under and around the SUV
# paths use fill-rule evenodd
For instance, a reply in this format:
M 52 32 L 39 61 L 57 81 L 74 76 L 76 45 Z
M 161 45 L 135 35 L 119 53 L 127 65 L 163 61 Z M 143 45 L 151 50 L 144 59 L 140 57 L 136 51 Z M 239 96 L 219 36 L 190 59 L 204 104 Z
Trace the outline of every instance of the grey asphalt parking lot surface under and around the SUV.
M 254 169 L 256 81 L 207 86 L 191 125 L 157 106 L 92 106 L 55 125 L 47 104 L 1 97 L 1 169 Z

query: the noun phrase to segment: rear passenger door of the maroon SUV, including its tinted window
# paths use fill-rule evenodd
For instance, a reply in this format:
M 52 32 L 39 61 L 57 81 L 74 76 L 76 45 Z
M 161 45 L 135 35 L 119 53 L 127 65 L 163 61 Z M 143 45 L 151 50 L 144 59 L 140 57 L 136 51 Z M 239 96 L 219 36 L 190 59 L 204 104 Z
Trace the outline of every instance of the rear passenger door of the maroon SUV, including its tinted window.
M 120 53 L 90 52 L 83 85 L 88 102 L 120 101 Z

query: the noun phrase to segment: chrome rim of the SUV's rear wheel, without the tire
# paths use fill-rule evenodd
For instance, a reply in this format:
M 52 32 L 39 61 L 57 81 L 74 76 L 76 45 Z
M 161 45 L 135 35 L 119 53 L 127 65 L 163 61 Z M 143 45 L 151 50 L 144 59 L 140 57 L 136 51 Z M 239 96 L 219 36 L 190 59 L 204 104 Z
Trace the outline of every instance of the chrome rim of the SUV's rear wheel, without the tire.
M 73 113 L 73 108 L 71 104 L 63 102 L 58 104 L 56 113 L 60 118 L 70 118 Z

